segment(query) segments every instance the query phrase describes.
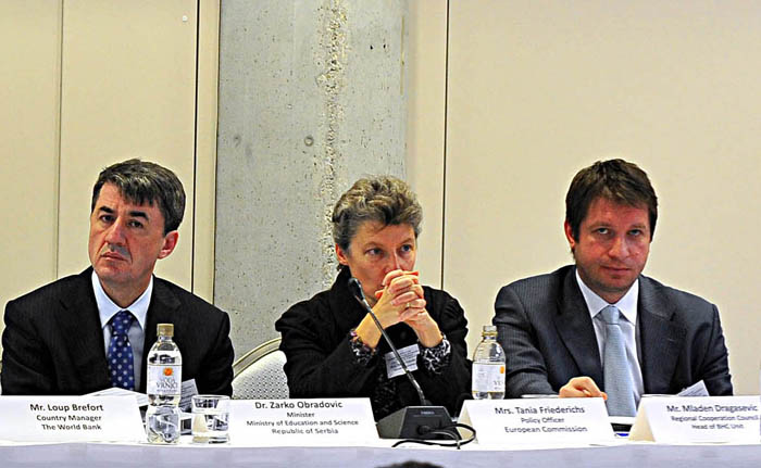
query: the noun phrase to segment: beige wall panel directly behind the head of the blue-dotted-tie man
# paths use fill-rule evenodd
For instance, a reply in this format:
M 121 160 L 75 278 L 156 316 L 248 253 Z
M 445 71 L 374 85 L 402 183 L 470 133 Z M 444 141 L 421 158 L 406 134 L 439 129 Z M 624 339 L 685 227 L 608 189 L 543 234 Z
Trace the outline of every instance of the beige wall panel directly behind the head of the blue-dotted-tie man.
M 159 276 L 191 286 L 196 1 L 65 3 L 59 275 L 88 266 L 92 184 L 104 166 L 142 157 L 172 168 L 188 203 L 179 244 Z

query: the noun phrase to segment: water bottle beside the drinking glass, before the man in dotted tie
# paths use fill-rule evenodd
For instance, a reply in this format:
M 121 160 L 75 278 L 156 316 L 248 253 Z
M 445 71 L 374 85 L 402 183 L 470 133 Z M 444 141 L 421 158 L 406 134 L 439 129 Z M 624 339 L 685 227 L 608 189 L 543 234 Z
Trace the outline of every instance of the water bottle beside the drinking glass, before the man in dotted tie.
M 179 395 L 183 356 L 172 341 L 174 325 L 159 324 L 159 338 L 148 353 L 146 434 L 148 442 L 174 444 L 179 440 Z

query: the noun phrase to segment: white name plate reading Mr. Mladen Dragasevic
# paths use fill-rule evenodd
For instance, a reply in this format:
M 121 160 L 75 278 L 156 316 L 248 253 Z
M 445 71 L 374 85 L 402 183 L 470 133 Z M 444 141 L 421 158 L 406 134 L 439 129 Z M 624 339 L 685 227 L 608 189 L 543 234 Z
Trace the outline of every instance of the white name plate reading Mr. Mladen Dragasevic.
M 662 443 L 759 441 L 759 396 L 646 396 L 629 439 Z

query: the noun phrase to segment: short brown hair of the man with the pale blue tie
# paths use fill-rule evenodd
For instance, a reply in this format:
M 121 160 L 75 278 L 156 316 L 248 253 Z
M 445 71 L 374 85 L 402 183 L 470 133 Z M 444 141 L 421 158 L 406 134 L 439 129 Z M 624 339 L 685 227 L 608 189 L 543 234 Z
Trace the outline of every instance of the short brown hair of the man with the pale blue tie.
M 650 239 L 658 220 L 658 197 L 645 170 L 624 160 L 598 161 L 579 170 L 565 195 L 565 220 L 574 240 L 587 216 L 589 206 L 599 197 L 628 206 L 647 206 Z

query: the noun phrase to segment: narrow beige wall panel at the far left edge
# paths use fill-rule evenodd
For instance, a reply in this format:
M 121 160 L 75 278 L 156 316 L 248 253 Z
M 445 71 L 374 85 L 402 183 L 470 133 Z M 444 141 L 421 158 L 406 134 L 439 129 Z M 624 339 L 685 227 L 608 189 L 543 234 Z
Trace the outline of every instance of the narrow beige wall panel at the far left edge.
M 55 278 L 60 45 L 60 1 L 0 2 L 2 311 Z

